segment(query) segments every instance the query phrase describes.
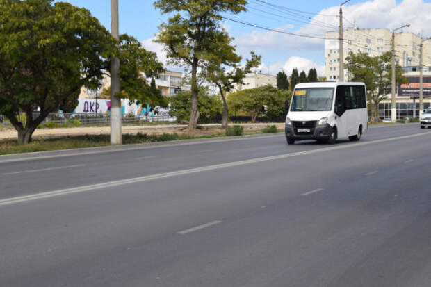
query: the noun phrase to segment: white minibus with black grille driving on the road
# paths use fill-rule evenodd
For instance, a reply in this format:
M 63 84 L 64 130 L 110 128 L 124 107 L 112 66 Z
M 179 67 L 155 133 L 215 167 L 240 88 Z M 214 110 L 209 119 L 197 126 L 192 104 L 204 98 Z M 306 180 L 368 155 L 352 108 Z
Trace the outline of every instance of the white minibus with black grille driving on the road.
M 286 140 L 360 140 L 368 129 L 364 83 L 298 83 L 286 116 Z

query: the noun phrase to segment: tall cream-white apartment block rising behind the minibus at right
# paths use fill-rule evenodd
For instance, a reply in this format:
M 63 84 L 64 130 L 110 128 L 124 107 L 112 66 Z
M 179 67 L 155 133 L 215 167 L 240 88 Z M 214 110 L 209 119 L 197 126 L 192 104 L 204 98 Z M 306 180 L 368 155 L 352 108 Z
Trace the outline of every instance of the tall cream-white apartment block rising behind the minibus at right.
M 325 76 L 329 81 L 339 80 L 339 31 L 325 34 Z M 343 31 L 344 61 L 350 52 L 364 52 L 370 56 L 379 56 L 391 51 L 392 34 L 387 28 L 358 29 L 348 28 Z M 414 33 L 395 34 L 396 62 L 401 67 L 419 65 L 419 45 L 421 38 Z M 423 65 L 431 66 L 431 41 L 423 42 Z M 348 79 L 345 69 L 345 79 Z

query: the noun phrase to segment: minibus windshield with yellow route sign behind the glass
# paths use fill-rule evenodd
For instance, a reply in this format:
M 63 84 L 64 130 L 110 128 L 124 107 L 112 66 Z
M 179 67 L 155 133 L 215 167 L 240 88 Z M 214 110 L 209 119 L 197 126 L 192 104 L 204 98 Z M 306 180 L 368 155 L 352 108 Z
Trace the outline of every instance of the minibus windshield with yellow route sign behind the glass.
M 292 111 L 332 110 L 334 88 L 299 88 L 292 99 Z

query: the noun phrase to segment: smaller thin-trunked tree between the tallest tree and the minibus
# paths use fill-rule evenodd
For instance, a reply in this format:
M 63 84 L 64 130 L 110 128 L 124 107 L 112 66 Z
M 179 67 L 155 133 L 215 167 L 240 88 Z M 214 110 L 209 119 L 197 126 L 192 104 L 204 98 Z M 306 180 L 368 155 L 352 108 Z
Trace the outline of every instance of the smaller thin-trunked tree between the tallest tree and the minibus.
M 204 67 L 206 80 L 218 87 L 220 97 L 222 98 L 223 127 L 227 126 L 229 120 L 225 93 L 231 92 L 235 84 L 244 84 L 243 79 L 245 78 L 245 74 L 250 73 L 253 67 L 257 67 L 261 63 L 261 56 L 257 56 L 252 52 L 250 59 L 246 60 L 244 67 L 238 67 L 240 61 L 241 57 L 235 53 L 234 47 L 231 47 L 231 49 L 220 53 L 218 58 L 208 62 L 207 66 Z M 227 70 L 227 67 L 230 67 L 230 69 Z

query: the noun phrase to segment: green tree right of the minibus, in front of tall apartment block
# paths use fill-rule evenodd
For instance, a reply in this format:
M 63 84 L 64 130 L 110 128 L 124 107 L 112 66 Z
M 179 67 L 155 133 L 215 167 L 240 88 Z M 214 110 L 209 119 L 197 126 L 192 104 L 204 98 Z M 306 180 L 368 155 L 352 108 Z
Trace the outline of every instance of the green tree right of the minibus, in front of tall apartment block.
M 391 52 L 375 57 L 366 53 L 350 53 L 345 60 L 350 81 L 365 83 L 371 116 L 377 117 L 380 101 L 391 92 Z M 407 83 L 404 70 L 399 65 L 396 65 L 396 83 Z

